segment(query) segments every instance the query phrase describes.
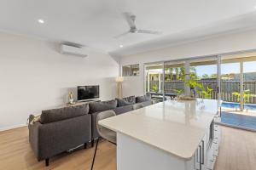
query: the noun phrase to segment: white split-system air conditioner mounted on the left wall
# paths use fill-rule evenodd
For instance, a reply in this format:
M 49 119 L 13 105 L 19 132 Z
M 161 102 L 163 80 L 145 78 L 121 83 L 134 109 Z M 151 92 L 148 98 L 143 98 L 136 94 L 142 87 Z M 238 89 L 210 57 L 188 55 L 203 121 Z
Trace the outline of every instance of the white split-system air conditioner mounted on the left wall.
M 61 54 L 75 55 L 79 57 L 87 57 L 87 51 L 84 47 L 73 44 L 61 44 Z

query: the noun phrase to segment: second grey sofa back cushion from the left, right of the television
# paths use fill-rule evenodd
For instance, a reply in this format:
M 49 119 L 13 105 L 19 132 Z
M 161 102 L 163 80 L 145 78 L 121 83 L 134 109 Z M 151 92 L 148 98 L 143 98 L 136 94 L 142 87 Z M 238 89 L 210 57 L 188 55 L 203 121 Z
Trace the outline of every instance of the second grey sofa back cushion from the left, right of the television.
M 98 112 L 98 111 L 107 111 L 113 110 L 117 107 L 117 100 L 112 99 L 108 101 L 101 101 L 101 102 L 91 102 L 89 104 L 90 113 Z

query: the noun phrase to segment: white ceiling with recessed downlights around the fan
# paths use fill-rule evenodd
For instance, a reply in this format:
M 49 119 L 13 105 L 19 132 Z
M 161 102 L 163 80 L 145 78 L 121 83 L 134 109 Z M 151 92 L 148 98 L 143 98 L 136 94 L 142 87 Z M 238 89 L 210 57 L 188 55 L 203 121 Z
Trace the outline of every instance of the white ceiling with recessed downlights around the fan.
M 50 41 L 76 42 L 117 55 L 207 37 L 256 24 L 256 0 L 0 0 L 0 30 Z M 137 15 L 130 34 L 122 13 Z M 38 19 L 45 21 L 38 24 Z M 119 48 L 123 44 L 124 48 Z

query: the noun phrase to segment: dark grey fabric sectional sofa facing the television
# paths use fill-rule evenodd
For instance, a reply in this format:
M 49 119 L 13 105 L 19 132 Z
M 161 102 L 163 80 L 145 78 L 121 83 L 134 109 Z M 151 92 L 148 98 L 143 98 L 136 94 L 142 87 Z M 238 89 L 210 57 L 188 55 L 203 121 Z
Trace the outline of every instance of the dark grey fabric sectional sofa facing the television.
M 38 161 L 45 160 L 81 144 L 91 142 L 99 137 L 96 130 L 96 116 L 101 111 L 113 110 L 117 115 L 132 111 L 136 103 L 151 105 L 149 95 L 131 96 L 102 102 L 90 102 L 83 105 L 68 106 L 61 109 L 42 111 L 40 121 L 32 122 L 30 116 L 29 142 Z

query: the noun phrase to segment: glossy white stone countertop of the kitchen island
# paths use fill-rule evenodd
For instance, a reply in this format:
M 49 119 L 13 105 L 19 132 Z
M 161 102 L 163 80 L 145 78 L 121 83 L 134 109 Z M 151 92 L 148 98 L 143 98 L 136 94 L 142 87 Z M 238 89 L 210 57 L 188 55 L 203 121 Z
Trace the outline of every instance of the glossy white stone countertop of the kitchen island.
M 99 122 L 159 150 L 189 160 L 218 112 L 218 100 L 166 100 Z

